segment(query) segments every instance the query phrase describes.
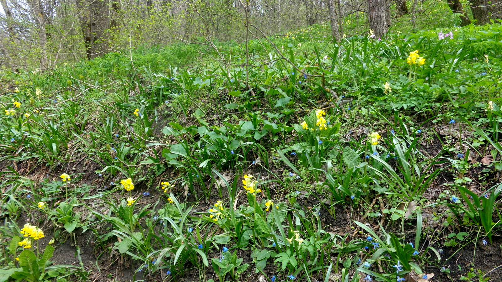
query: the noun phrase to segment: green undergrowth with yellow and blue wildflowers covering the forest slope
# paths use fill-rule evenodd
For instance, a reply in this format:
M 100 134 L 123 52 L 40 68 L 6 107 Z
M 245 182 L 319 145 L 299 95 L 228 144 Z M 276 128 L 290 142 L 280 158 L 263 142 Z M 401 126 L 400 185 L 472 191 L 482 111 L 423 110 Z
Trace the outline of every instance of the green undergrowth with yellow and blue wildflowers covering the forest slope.
M 491 244 L 502 26 L 317 28 L 248 63 L 229 42 L 4 73 L 0 277 L 86 280 L 50 261 L 82 234 L 137 280 L 432 281 L 443 248 Z

